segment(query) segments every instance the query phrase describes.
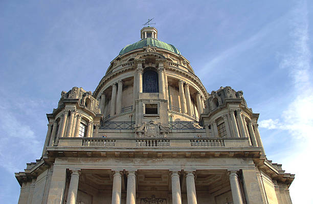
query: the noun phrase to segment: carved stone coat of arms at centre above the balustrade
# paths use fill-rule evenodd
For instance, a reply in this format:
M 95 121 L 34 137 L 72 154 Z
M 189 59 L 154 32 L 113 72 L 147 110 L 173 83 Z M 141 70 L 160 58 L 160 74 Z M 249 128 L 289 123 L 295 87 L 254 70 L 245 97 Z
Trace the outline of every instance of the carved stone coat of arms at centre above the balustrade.
M 166 138 L 168 128 L 163 127 L 161 123 L 154 124 L 154 121 L 149 121 L 148 124 L 144 123 L 136 130 L 139 138 Z

